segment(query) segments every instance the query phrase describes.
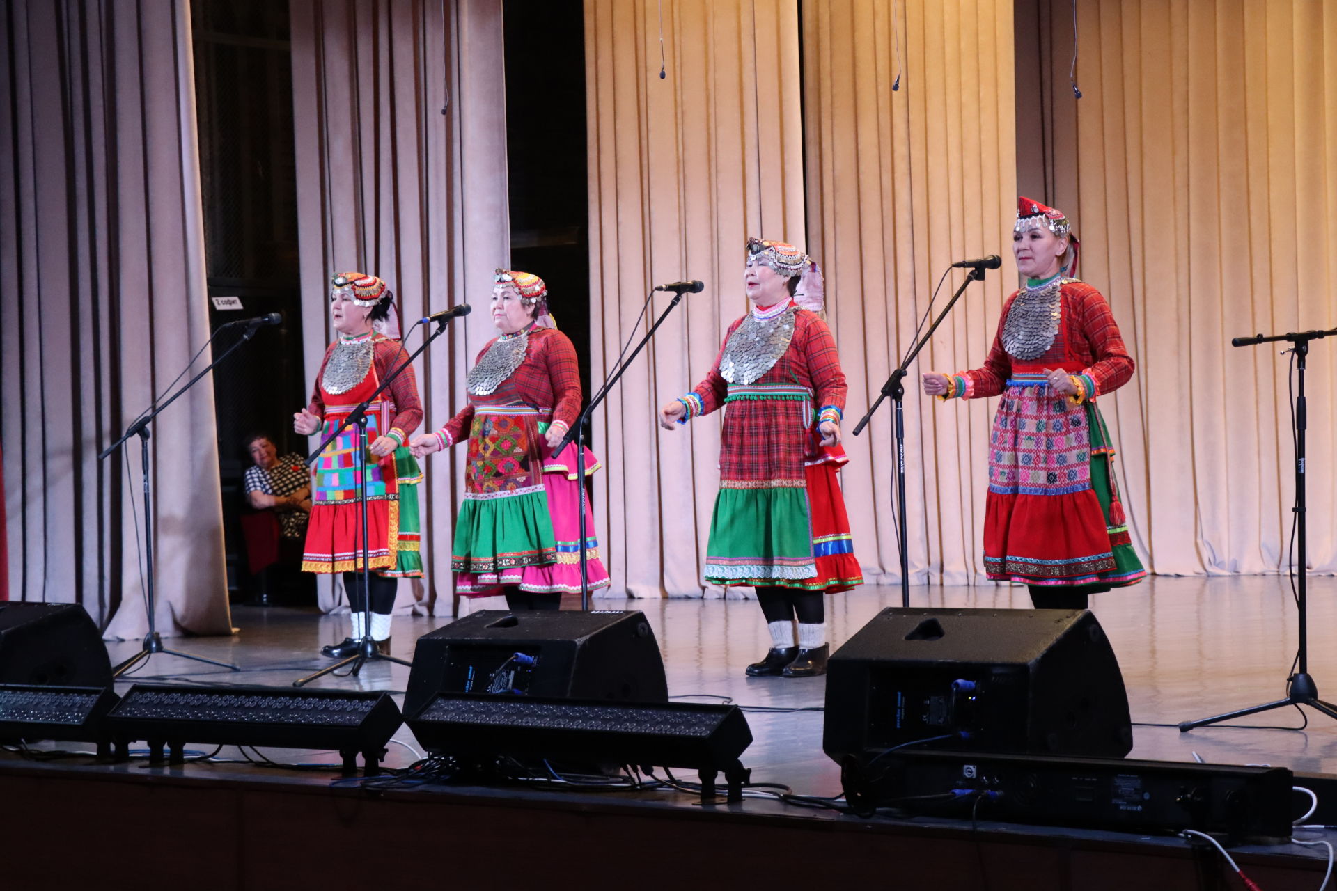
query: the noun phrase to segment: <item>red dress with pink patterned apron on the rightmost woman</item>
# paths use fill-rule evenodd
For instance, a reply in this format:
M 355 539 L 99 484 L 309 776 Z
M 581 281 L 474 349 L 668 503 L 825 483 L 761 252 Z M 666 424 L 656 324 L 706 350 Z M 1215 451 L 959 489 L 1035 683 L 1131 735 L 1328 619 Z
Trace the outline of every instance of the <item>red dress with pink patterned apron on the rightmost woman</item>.
M 1104 297 L 1064 279 L 1054 343 L 1039 358 L 1016 359 L 1003 329 L 1017 294 L 1003 307 L 984 367 L 956 375 L 963 398 L 1003 397 L 989 435 L 985 570 L 1029 585 L 1131 585 L 1146 570 L 1132 552 L 1095 398 L 1128 382 L 1132 358 Z M 1086 399 L 1048 393 L 1046 371 L 1058 369 L 1078 377 Z

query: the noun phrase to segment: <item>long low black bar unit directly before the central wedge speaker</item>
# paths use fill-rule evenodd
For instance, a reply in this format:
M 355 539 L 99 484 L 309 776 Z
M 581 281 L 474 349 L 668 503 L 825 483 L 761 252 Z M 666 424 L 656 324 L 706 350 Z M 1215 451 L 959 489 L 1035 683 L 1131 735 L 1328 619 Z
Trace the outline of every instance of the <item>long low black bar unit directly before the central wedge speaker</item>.
M 737 705 L 701 703 L 440 693 L 408 724 L 424 748 L 464 764 L 509 756 L 540 772 L 564 759 L 694 768 L 703 803 L 714 800 L 721 771 L 727 800 L 742 800 L 747 771 L 738 759 L 753 739 Z

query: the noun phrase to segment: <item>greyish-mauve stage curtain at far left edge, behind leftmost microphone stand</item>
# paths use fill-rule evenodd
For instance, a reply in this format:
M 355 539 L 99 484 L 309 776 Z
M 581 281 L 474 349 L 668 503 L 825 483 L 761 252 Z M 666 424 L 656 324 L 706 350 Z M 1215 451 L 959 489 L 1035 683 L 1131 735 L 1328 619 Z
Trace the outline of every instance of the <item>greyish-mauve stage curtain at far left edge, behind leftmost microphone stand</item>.
M 209 338 L 189 8 L 13 0 L 0 47 L 11 596 L 135 639 L 139 443 L 98 453 Z M 151 431 L 158 631 L 230 633 L 211 381 Z

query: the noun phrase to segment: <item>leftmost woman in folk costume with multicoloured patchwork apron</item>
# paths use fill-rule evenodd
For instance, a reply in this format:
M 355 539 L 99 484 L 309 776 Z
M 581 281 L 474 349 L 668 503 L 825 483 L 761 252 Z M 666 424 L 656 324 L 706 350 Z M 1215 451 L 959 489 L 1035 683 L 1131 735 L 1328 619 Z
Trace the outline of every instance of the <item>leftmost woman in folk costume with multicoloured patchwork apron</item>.
M 312 402 L 293 415 L 298 433 L 326 437 L 408 359 L 398 337 L 394 294 L 374 275 L 340 273 L 330 281 L 330 322 L 338 339 L 325 350 Z M 381 330 L 384 329 L 384 330 Z M 405 448 L 422 422 L 413 369 L 406 367 L 368 409 L 366 542 L 372 570 L 370 635 L 382 653 L 390 651 L 390 610 L 396 581 L 421 576 L 417 484 L 422 472 Z M 344 573 L 353 608 L 353 628 L 326 656 L 357 655 L 362 639 L 362 494 L 358 478 L 357 425 L 349 425 L 316 462 L 312 513 L 306 529 L 306 572 Z

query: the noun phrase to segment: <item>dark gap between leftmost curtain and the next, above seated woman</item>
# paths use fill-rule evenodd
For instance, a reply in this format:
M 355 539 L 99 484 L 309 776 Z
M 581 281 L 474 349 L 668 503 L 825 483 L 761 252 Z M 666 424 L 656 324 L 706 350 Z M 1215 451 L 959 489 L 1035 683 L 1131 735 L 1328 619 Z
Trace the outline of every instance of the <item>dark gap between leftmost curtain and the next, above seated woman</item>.
M 286 0 L 191 0 L 210 326 L 281 313 L 214 371 L 227 588 L 250 596 L 241 513 L 251 465 L 242 438 L 267 431 L 303 452 L 291 415 L 306 402 L 298 306 L 297 159 Z M 218 297 L 239 298 L 221 309 Z M 214 355 L 235 343 L 223 331 Z

